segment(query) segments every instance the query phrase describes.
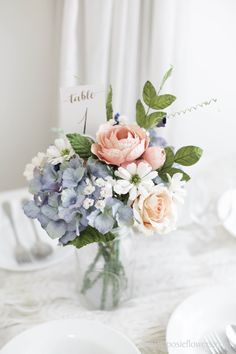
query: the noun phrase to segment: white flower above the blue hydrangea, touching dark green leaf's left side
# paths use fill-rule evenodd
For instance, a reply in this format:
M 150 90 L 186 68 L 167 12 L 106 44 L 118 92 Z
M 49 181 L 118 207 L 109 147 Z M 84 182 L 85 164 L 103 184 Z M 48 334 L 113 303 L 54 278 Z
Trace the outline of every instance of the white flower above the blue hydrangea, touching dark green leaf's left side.
M 75 154 L 67 138 L 56 139 L 54 145 L 47 149 L 48 161 L 53 165 L 69 160 Z

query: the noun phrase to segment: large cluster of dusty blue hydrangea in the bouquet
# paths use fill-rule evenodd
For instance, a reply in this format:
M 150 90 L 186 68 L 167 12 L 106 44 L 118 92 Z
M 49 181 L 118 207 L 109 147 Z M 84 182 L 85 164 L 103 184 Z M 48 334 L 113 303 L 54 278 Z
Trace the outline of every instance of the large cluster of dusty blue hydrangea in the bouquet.
M 104 212 L 95 207 L 102 188 L 95 180 L 110 175 L 110 168 L 93 158 L 86 164 L 79 156 L 58 165 L 46 164 L 43 170 L 34 171 L 30 183 L 34 200 L 24 205 L 24 212 L 28 217 L 38 219 L 48 235 L 62 244 L 79 236 L 89 221 L 103 234 L 117 225 L 128 225 L 132 210 L 121 201 L 108 198 Z M 88 186 L 90 191 L 86 192 Z M 91 206 L 84 204 L 86 198 Z

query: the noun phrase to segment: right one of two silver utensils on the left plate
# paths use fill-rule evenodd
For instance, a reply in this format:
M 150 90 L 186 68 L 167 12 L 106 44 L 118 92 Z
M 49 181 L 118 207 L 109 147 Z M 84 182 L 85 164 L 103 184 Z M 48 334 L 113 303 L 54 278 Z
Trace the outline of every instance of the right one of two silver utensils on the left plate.
M 27 201 L 28 201 L 27 199 L 24 199 L 21 203 L 22 206 L 24 206 L 24 204 Z M 34 223 L 34 220 L 30 219 L 30 221 L 31 221 L 31 225 L 33 227 L 34 235 L 35 235 L 35 242 L 34 242 L 33 246 L 31 247 L 30 251 L 31 251 L 32 255 L 37 259 L 46 258 L 53 252 L 53 248 L 47 242 L 44 242 L 40 239 L 40 237 L 38 235 L 38 231 L 37 231 L 35 223 Z

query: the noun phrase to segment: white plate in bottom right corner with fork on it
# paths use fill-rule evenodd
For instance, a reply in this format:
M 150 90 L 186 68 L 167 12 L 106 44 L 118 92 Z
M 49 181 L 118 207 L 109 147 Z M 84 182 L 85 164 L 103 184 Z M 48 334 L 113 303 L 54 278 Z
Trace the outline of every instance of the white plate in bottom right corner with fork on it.
M 170 318 L 166 342 L 169 354 L 206 354 L 204 336 L 216 331 L 225 346 L 227 324 L 236 324 L 236 288 L 212 287 L 185 300 Z

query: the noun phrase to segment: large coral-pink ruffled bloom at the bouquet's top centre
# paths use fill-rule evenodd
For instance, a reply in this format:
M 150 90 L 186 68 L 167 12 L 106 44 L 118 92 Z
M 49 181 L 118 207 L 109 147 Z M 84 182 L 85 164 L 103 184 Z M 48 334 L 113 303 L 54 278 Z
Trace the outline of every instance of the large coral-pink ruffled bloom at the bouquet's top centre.
M 147 149 L 149 137 L 136 125 L 103 124 L 91 151 L 99 160 L 120 166 L 138 159 Z

